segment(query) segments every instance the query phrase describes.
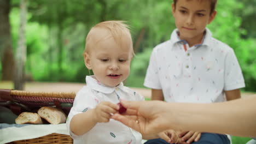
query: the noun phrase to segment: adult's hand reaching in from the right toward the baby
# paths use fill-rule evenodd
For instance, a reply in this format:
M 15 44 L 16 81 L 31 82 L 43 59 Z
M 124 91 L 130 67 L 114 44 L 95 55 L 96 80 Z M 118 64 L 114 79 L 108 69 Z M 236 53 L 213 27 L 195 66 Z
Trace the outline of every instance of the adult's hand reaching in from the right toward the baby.
M 142 135 L 154 135 L 167 128 L 166 125 L 176 125 L 168 105 L 164 101 L 125 101 L 121 104 L 127 109 L 122 115 L 115 113 L 112 118 L 139 131 Z M 155 109 L 157 107 L 157 109 Z M 168 118 L 168 116 L 172 118 Z M 155 137 L 153 137 L 155 138 Z

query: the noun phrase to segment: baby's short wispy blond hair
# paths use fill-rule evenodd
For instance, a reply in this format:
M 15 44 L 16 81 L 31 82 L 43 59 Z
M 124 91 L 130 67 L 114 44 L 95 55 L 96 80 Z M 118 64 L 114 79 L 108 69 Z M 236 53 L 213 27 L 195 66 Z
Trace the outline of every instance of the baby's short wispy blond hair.
M 104 37 L 100 37 L 100 38 L 95 38 L 95 37 L 92 38 L 93 35 L 96 33 L 95 29 L 102 29 L 103 31 L 108 31 L 110 35 L 104 35 Z M 130 41 L 131 53 L 133 56 L 134 51 L 132 46 L 131 33 L 129 29 L 130 27 L 125 24 L 125 21 L 104 21 L 104 22 L 98 23 L 97 25 L 91 28 L 90 32 L 86 37 L 85 52 L 88 52 L 88 50 L 91 49 L 92 45 L 97 44 L 102 39 L 114 38 L 115 42 L 119 45 L 122 45 L 124 39 L 127 41 Z

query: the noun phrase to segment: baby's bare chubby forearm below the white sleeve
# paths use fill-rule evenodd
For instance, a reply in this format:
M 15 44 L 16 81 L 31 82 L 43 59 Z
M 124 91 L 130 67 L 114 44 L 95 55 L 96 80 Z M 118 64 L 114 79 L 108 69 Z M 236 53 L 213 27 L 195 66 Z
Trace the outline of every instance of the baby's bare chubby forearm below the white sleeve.
M 83 135 L 91 130 L 96 124 L 95 109 L 75 115 L 70 122 L 70 129 L 75 135 Z

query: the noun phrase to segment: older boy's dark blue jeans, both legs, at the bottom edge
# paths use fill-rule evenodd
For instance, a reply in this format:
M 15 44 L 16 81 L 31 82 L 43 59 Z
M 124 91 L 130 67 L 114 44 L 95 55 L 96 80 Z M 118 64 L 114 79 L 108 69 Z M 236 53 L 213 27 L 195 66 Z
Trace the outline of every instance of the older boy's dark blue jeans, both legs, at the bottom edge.
M 162 139 L 148 140 L 144 144 L 170 144 Z M 202 133 L 201 138 L 192 144 L 230 144 L 228 136 L 222 134 Z

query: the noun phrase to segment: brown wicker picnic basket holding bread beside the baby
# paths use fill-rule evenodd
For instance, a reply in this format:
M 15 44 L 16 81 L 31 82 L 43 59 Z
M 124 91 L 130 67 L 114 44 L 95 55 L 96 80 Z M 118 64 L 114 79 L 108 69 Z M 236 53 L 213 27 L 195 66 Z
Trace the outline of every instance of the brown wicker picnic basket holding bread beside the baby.
M 24 111 L 38 110 L 42 106 L 56 106 L 68 115 L 74 101 L 75 92 L 28 92 L 0 89 L 0 104 L 19 115 Z M 69 135 L 49 134 L 36 139 L 19 140 L 10 143 L 73 143 Z

